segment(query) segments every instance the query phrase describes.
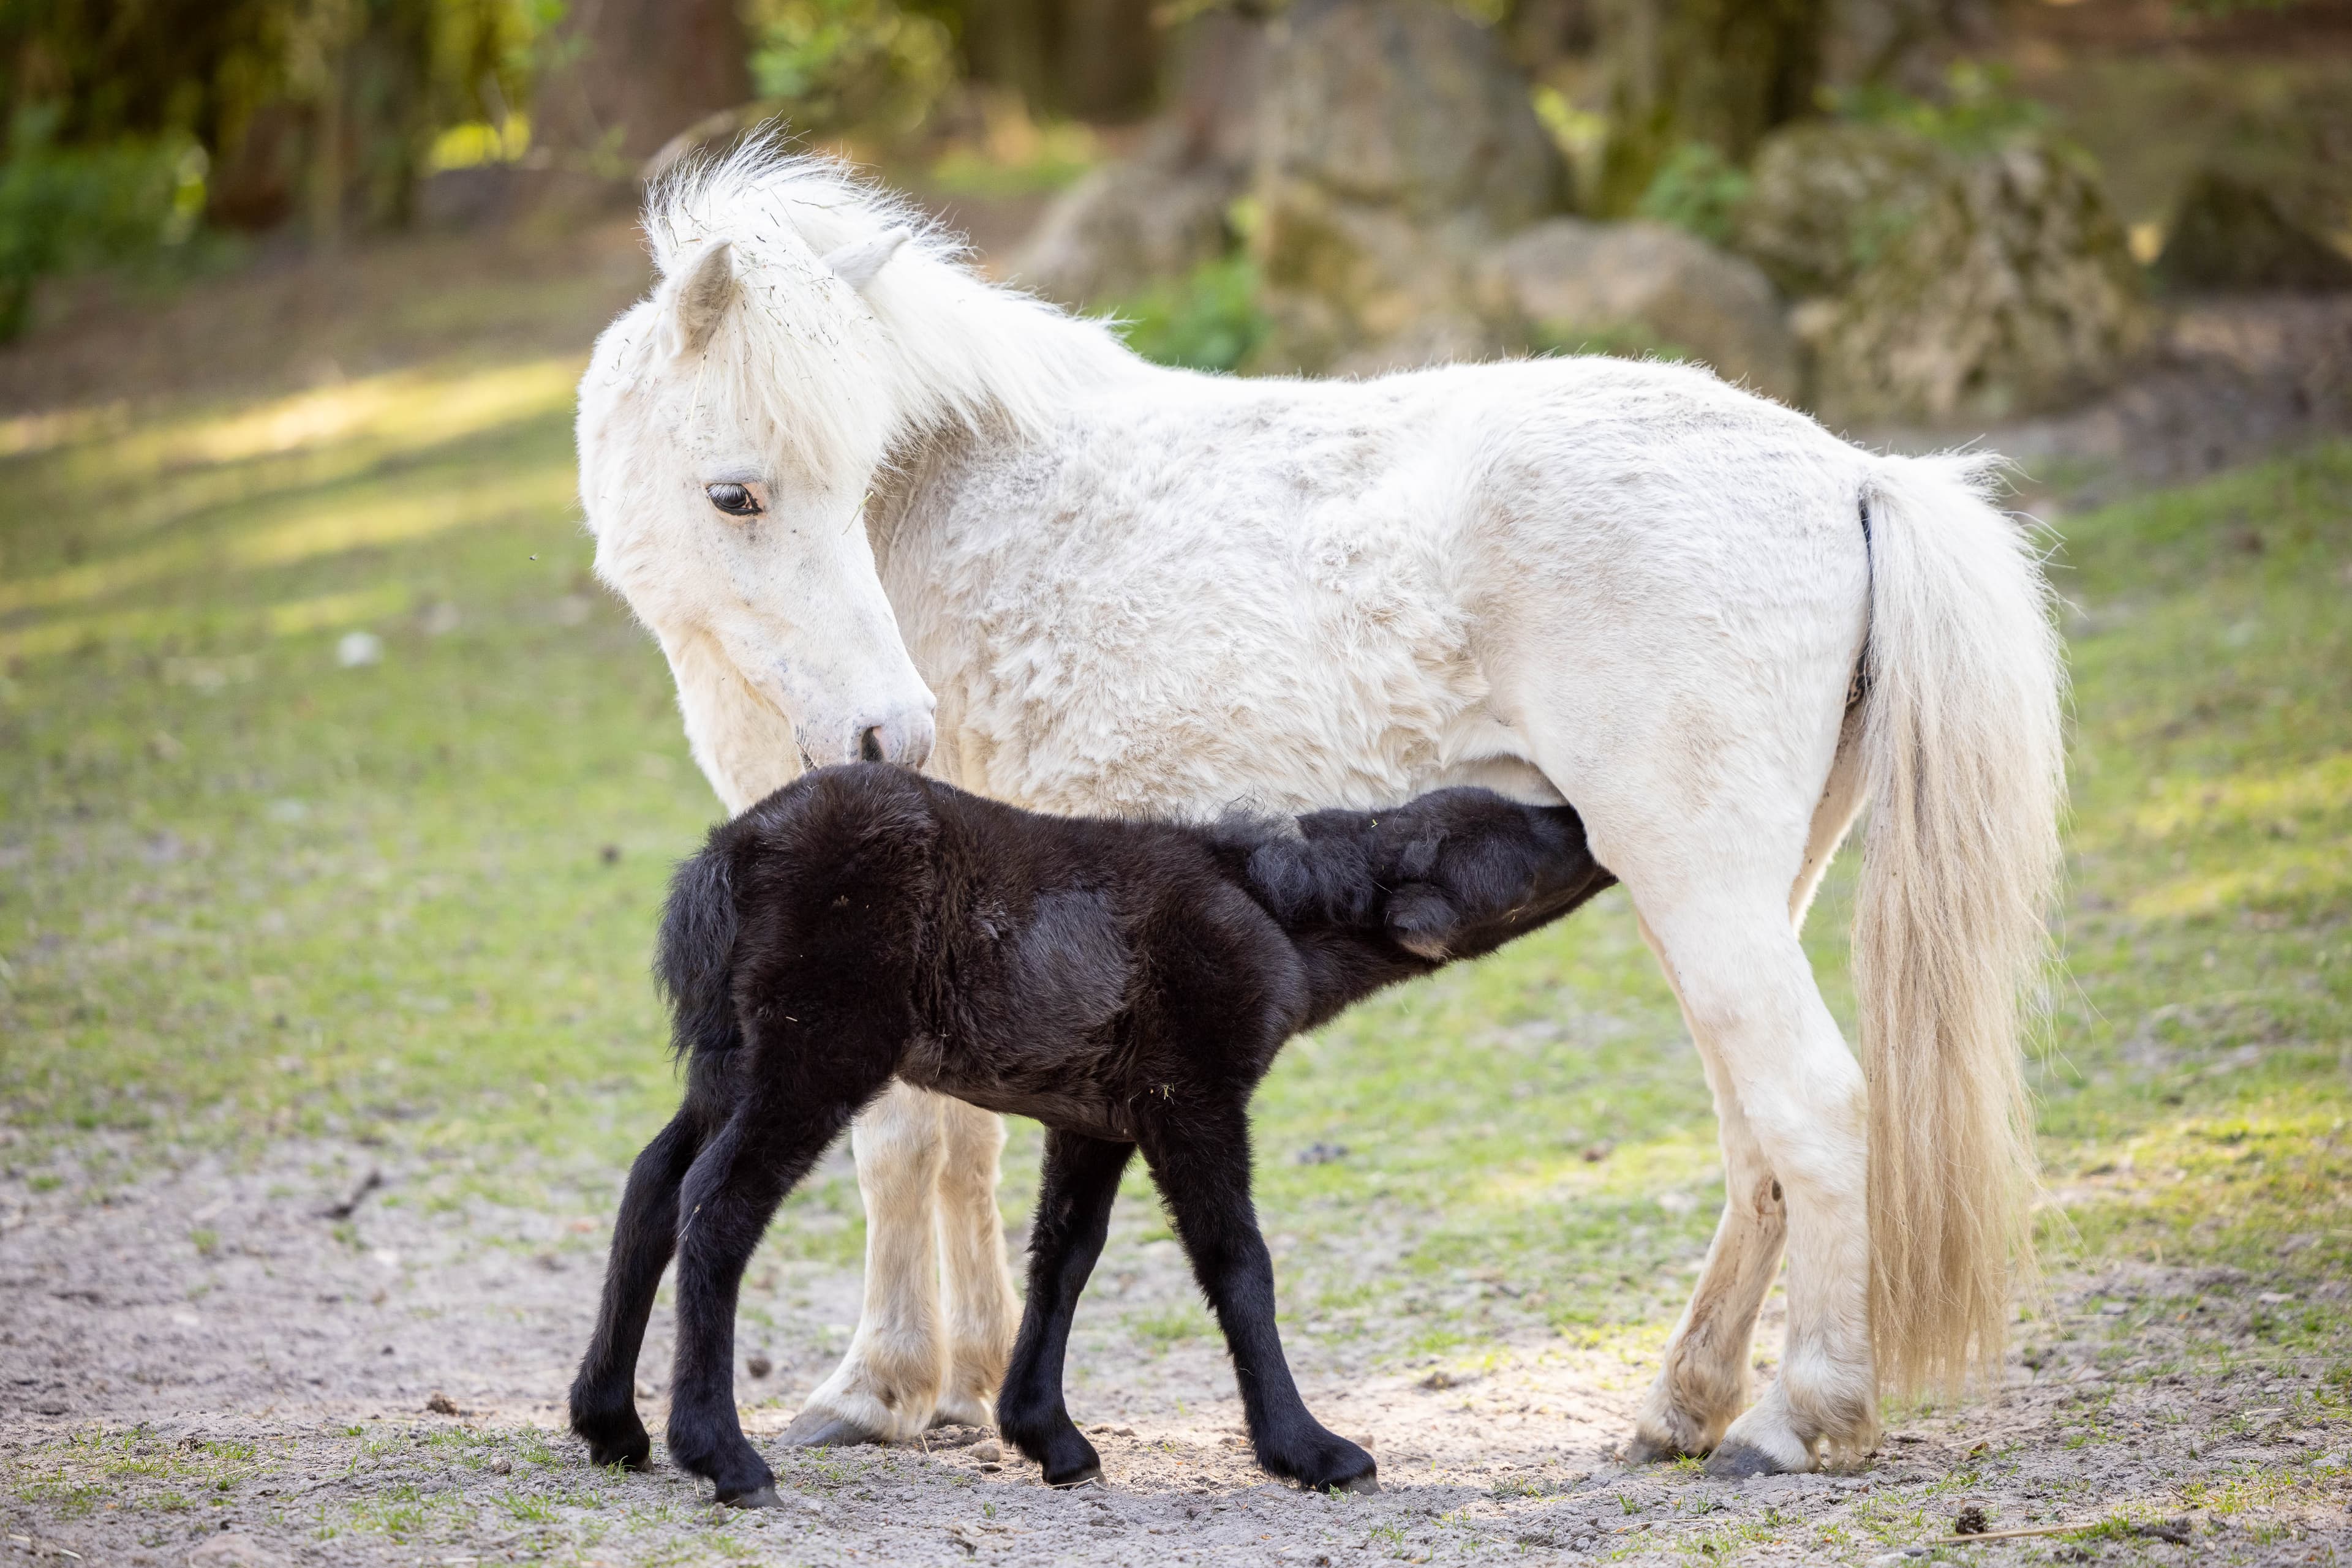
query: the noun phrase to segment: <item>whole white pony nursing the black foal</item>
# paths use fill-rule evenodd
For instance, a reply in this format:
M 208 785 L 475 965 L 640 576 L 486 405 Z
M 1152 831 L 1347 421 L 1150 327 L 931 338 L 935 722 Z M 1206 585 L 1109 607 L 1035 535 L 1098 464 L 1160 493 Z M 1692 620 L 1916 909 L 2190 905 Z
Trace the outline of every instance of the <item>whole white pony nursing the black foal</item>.
M 1999 1356 L 2063 762 L 2039 564 L 1980 461 L 1672 364 L 1160 369 L 769 146 L 647 226 L 581 498 L 729 811 L 854 757 L 1044 811 L 1566 799 L 1682 1001 L 1729 1187 L 1632 1450 L 1811 1469 L 1870 1448 L 1882 1389 Z M 1865 804 L 1856 1065 L 1797 924 Z M 1000 1147 L 903 1086 L 858 1119 L 866 1309 L 790 1441 L 990 1418 Z

